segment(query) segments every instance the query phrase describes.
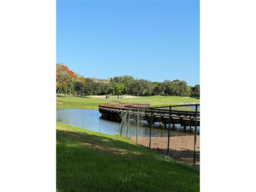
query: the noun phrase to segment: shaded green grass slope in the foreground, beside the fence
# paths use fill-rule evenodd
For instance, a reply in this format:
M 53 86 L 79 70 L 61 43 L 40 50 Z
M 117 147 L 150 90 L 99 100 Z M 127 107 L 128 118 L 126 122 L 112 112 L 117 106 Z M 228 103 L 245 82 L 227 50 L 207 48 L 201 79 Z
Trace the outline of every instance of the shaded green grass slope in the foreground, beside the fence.
M 56 123 L 57 191 L 199 191 L 198 168 L 125 138 Z

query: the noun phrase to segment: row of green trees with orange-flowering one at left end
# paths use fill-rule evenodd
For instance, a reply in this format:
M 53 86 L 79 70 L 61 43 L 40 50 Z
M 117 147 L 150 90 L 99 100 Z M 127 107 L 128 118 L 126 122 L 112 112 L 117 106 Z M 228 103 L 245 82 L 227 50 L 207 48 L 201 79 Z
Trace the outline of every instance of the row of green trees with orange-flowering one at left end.
M 135 96 L 192 96 L 200 97 L 200 85 L 188 86 L 179 79 L 152 82 L 146 79 L 135 79 L 130 75 L 110 78 L 109 83 L 94 82 L 70 71 L 64 64 L 56 64 L 56 94 L 73 95 L 121 95 Z

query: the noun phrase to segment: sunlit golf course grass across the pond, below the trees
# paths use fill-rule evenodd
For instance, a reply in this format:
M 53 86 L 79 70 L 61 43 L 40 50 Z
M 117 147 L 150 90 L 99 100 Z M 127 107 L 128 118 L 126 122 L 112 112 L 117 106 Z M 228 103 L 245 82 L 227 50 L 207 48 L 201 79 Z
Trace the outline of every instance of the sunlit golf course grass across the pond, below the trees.
M 79 97 L 79 96 L 67 96 L 59 94 L 56 98 L 60 105 L 58 108 L 81 108 L 81 109 L 98 109 L 100 104 L 110 104 L 110 101 L 117 101 L 121 103 L 131 104 L 150 104 L 152 107 L 157 106 L 171 106 L 179 102 L 200 102 L 198 98 L 179 97 L 179 96 L 148 96 L 148 97 L 133 97 L 127 98 L 123 96 L 121 99 L 117 99 L 114 96 L 110 98 L 95 98 L 93 96 Z

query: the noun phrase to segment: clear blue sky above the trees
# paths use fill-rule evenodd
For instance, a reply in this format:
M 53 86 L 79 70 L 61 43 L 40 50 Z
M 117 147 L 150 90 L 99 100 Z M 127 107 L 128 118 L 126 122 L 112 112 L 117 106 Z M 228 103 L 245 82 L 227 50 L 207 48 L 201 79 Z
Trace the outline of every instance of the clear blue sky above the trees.
M 200 84 L 200 1 L 56 1 L 56 62 L 85 77 Z

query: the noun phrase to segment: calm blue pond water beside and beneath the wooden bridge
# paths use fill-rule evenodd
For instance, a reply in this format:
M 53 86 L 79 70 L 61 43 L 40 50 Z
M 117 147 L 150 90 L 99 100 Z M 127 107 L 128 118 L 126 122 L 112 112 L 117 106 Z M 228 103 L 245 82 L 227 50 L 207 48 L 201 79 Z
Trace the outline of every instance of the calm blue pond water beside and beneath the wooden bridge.
M 106 134 L 116 134 L 120 123 L 116 121 L 105 120 L 101 118 L 101 114 L 97 109 L 57 109 L 56 121 L 72 126 L 79 126 L 86 128 L 87 130 L 93 130 L 95 132 L 102 132 Z M 183 130 L 180 125 L 175 125 L 179 130 Z M 124 126 L 123 131 L 126 132 L 127 126 Z M 198 133 L 200 127 L 198 127 Z M 190 135 L 189 132 L 173 131 L 171 130 L 171 136 Z M 139 136 L 149 136 L 150 127 L 146 121 L 140 123 Z M 194 134 L 193 134 L 194 135 Z M 136 136 L 136 125 L 131 123 L 129 129 L 129 136 Z M 159 123 L 156 123 L 152 128 L 153 137 L 167 137 L 168 130 L 160 128 Z

